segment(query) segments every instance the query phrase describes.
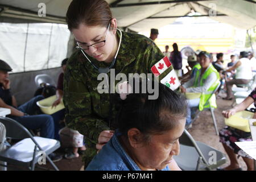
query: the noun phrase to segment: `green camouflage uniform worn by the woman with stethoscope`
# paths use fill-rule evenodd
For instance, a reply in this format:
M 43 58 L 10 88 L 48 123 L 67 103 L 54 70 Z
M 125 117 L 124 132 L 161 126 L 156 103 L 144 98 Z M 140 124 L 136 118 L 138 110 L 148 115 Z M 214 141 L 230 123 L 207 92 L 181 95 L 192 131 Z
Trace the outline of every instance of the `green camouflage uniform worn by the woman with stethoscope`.
M 143 35 L 122 33 L 121 47 L 113 67 L 115 75 L 125 73 L 128 77 L 129 73 L 151 73 L 151 67 L 164 57 L 162 51 Z M 93 57 L 88 58 L 98 67 L 109 67 Z M 172 69 L 172 66 L 169 67 L 159 76 L 159 80 Z M 110 103 L 110 94 L 98 93 L 97 85 L 101 80 L 98 81 L 97 76 L 97 70 L 81 51 L 77 50 L 69 58 L 64 75 L 65 121 L 68 127 L 85 136 L 85 165 L 96 155 L 96 144 L 101 131 L 115 129 L 113 119 L 118 110 Z M 110 78 L 110 73 L 108 76 Z M 119 81 L 115 81 L 115 84 L 117 82 Z

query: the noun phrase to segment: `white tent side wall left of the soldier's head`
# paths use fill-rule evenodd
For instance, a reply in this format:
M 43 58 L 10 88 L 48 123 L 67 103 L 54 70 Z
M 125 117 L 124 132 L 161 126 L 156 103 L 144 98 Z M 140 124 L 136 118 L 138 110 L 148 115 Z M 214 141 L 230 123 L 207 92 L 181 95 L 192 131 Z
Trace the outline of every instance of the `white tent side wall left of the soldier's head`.
M 0 59 L 10 64 L 13 72 L 60 67 L 67 56 L 69 36 L 64 24 L 0 23 Z

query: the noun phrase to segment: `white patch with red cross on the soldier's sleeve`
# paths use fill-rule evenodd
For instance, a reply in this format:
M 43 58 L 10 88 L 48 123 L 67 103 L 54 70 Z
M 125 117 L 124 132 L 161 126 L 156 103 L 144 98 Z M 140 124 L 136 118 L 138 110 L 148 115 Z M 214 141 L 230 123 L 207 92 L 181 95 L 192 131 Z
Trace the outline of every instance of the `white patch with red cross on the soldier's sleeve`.
M 166 77 L 160 80 L 160 82 L 161 84 L 166 85 L 168 88 L 172 90 L 176 90 L 180 86 L 180 81 L 177 78 L 174 69 L 170 73 L 168 73 Z

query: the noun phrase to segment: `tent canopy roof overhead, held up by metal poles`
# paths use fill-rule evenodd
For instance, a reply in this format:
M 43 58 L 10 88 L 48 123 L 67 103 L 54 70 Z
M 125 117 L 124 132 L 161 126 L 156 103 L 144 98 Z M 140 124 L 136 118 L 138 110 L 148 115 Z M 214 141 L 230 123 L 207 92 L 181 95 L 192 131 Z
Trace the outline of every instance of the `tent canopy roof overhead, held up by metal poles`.
M 0 0 L 0 22 L 65 23 L 65 14 L 72 0 Z M 106 0 L 117 18 L 118 27 L 131 31 L 160 28 L 191 12 L 209 16 L 222 23 L 250 29 L 256 25 L 256 0 Z M 38 11 L 46 6 L 46 16 Z M 15 19 L 15 21 L 14 21 Z M 127 30 L 127 29 L 126 29 Z

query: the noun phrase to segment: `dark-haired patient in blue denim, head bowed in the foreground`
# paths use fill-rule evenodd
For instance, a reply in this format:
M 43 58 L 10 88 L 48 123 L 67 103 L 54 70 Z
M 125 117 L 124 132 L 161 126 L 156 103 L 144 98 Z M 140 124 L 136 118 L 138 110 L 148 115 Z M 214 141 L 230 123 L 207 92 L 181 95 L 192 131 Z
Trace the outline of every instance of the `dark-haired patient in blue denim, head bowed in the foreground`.
M 131 88 L 127 82 L 123 84 Z M 121 102 L 116 117 L 118 129 L 90 162 L 87 171 L 180 170 L 172 156 L 179 155 L 187 102 L 163 84 L 159 84 L 156 100 L 149 100 L 149 95 L 118 94 Z

